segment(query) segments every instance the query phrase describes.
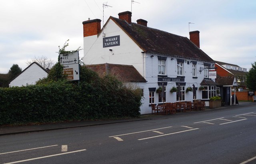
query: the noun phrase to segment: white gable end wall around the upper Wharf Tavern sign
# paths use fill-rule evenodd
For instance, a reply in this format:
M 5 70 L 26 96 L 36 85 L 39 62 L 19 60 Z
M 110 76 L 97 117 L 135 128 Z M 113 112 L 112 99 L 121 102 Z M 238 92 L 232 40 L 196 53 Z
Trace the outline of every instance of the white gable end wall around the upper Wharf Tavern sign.
M 99 37 L 97 35 L 84 37 L 84 64 L 133 65 L 144 76 L 142 49 L 111 19 L 105 25 L 104 33 L 105 37 L 120 35 L 120 46 L 103 48 L 102 33 L 100 33 Z

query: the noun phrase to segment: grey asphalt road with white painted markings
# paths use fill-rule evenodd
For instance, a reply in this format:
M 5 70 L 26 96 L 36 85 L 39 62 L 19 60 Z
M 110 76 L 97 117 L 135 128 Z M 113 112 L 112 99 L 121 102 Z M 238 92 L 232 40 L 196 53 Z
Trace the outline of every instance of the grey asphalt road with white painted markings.
M 166 119 L 0 136 L 0 163 L 240 164 L 256 156 L 255 136 L 255 106 L 191 112 Z

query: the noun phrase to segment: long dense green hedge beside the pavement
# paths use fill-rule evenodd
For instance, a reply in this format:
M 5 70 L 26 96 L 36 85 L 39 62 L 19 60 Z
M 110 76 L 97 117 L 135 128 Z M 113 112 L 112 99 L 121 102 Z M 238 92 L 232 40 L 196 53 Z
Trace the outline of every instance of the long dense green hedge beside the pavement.
M 79 86 L 62 81 L 0 88 L 0 125 L 138 117 L 140 99 L 110 76 Z

